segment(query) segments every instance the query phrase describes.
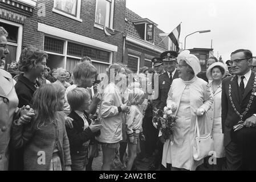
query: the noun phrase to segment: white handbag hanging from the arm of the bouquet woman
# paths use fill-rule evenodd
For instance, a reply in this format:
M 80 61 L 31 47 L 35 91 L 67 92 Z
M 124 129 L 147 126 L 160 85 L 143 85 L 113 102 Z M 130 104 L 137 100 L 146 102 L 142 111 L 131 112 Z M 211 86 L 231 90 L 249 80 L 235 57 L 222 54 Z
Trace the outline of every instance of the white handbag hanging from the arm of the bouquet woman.
M 206 123 L 205 123 L 206 126 Z M 206 127 L 205 127 L 206 128 Z M 207 130 L 205 130 L 206 132 Z M 213 151 L 213 138 L 210 133 L 205 133 L 200 136 L 200 131 L 198 127 L 198 121 L 196 118 L 196 126 L 194 129 L 194 143 L 193 143 L 193 158 L 194 160 L 204 159 L 209 155 L 210 151 Z

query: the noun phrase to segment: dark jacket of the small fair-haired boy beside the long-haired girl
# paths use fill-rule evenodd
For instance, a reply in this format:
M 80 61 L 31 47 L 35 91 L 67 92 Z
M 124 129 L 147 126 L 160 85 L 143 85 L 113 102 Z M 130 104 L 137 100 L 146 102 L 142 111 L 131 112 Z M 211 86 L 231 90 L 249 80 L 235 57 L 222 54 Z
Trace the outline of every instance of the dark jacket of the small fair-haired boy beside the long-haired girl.
M 89 119 L 86 112 L 84 112 L 84 114 L 86 115 L 87 121 L 90 125 L 91 119 Z M 92 133 L 89 127 L 84 130 L 84 121 L 78 114 L 76 114 L 75 111 L 71 111 L 68 117 L 74 119 L 74 121 L 72 121 L 72 129 L 66 126 L 68 140 L 70 141 L 70 154 L 79 154 L 80 151 L 83 151 L 83 143 L 94 139 L 96 135 L 100 134 L 100 131 Z

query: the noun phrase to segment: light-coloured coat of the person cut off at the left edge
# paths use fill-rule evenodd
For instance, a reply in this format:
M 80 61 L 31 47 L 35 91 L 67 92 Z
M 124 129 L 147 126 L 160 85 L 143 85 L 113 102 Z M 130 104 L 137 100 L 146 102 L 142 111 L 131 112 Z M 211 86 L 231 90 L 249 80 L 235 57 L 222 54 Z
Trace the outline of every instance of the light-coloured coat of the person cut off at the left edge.
M 0 171 L 8 170 L 10 130 L 18 103 L 13 77 L 0 69 Z

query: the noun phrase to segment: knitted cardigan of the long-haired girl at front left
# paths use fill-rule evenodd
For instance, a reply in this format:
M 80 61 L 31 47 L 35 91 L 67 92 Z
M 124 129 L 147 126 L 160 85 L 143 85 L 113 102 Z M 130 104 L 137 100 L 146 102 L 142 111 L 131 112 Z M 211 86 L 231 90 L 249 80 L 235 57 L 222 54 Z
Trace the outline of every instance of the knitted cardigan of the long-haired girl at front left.
M 59 151 L 62 169 L 71 165 L 70 144 L 65 129 L 64 113 L 56 113 L 56 122 L 36 129 L 31 121 L 27 125 L 13 125 L 11 144 L 14 148 L 24 147 L 24 169 L 26 171 L 48 171 L 54 152 L 55 142 Z M 39 151 L 41 151 L 39 153 Z M 45 163 L 38 163 L 44 156 Z M 43 160 L 43 159 L 42 159 Z

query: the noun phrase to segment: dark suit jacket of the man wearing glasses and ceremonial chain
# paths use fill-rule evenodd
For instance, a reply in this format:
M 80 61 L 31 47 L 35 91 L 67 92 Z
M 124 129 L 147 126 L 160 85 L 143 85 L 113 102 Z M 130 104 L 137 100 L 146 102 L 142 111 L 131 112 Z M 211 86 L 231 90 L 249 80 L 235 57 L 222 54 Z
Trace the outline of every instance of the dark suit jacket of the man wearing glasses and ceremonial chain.
M 230 82 L 231 78 L 234 77 L 233 81 Z M 234 125 L 237 125 L 240 118 L 238 117 L 237 113 L 235 113 L 230 99 L 229 99 L 229 84 L 231 85 L 231 97 L 233 100 L 233 103 L 235 105 L 235 108 L 238 110 L 239 113 L 243 113 L 245 111 L 247 104 L 249 103 L 251 92 L 252 92 L 252 86 L 254 84 L 254 72 L 251 72 L 251 76 L 249 78 L 249 81 L 247 82 L 245 92 L 243 94 L 242 100 L 239 97 L 239 88 L 238 88 L 238 82 L 237 82 L 237 76 L 230 76 L 225 78 L 222 81 L 222 98 L 221 98 L 221 107 L 222 107 L 222 113 L 221 113 L 221 120 L 222 120 L 222 133 L 224 133 L 224 146 L 227 146 L 232 138 L 231 138 L 231 131 L 233 129 Z M 253 102 L 250 106 L 249 111 L 243 117 L 243 121 L 245 121 L 247 118 L 251 117 L 251 115 L 256 114 L 256 96 L 253 98 Z

